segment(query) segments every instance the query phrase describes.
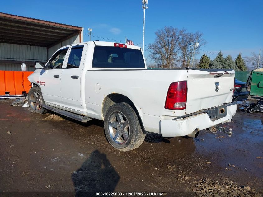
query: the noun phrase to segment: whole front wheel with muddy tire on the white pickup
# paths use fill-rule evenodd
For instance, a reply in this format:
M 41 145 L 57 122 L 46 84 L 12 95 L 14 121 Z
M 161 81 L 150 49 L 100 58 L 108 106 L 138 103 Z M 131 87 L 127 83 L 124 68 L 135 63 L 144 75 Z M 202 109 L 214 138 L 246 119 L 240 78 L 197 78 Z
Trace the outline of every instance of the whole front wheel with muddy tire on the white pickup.
M 27 101 L 32 111 L 39 114 L 47 113 L 47 110 L 40 106 L 40 104 L 45 104 L 40 87 L 34 86 L 30 88 L 27 95 Z

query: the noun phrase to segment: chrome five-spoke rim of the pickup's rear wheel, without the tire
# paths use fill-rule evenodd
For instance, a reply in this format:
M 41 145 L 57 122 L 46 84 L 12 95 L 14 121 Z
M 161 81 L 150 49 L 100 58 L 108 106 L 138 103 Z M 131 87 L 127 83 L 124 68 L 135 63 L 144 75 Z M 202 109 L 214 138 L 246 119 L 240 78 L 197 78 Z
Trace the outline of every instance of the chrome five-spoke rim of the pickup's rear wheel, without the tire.
M 119 111 L 110 115 L 108 122 L 111 139 L 117 144 L 125 143 L 129 138 L 129 121 L 125 115 Z

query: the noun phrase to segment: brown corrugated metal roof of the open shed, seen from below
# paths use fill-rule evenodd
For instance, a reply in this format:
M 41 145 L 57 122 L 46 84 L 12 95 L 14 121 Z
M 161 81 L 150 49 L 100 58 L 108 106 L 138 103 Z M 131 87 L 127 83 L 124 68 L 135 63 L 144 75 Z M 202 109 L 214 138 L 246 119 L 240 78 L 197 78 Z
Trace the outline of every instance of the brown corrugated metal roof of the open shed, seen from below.
M 0 12 L 0 42 L 50 48 L 75 35 L 82 27 Z

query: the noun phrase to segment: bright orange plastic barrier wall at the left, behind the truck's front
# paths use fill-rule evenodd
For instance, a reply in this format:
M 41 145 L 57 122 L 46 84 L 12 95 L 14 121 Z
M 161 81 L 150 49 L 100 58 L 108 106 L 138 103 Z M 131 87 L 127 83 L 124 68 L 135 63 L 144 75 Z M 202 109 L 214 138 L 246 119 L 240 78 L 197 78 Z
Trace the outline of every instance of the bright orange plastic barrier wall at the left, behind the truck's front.
M 10 95 L 21 95 L 24 91 L 28 93 L 30 82 L 27 77 L 31 71 L 0 71 L 0 95 L 9 92 Z

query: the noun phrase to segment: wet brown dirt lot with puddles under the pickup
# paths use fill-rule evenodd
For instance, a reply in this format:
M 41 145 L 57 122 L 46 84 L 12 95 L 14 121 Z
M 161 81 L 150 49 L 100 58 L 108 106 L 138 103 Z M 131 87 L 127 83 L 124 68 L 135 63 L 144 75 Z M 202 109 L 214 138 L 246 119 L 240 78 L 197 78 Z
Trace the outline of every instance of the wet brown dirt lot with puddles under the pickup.
M 233 128 L 231 137 L 206 130 L 196 139 L 149 134 L 139 148 L 119 152 L 107 142 L 102 121 L 82 124 L 11 102 L 0 101 L 0 195 L 140 191 L 194 196 L 193 190 L 199 194 L 214 185 L 234 188 L 238 196 L 262 195 L 257 192 L 263 185 L 263 113 L 248 114 L 238 106 L 233 121 L 225 124 Z

